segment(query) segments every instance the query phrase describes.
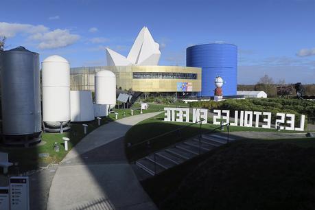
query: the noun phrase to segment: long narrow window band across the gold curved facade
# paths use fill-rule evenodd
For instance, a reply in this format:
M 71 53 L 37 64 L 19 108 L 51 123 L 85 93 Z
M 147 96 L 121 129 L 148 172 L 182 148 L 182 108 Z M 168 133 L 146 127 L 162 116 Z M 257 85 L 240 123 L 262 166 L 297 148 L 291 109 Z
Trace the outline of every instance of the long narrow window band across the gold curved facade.
M 133 72 L 133 79 L 185 79 L 197 80 L 197 73 Z

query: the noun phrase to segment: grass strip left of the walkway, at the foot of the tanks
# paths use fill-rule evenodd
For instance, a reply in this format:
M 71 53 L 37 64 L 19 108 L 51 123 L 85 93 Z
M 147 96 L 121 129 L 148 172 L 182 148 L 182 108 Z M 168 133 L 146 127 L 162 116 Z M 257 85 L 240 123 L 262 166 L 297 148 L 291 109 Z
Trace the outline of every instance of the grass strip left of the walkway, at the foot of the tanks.
M 163 110 L 163 105 L 150 105 L 148 110 L 143 110 L 143 113 L 152 113 L 159 110 Z M 132 106 L 134 109 L 134 115 L 139 115 L 139 104 Z M 117 112 L 118 119 L 123 117 L 130 117 L 130 109 L 115 109 Z M 107 124 L 110 121 L 115 120 L 115 114 L 110 113 L 108 117 L 102 117 L 101 125 Z M 86 121 L 80 123 L 71 123 L 71 130 L 69 132 L 60 133 L 49 133 L 45 132 L 42 135 L 42 142 L 39 145 L 34 145 L 30 148 L 13 148 L 9 146 L 1 145 L 0 152 L 9 153 L 9 161 L 17 163 L 17 166 L 9 168 L 9 174 L 23 173 L 30 170 L 36 170 L 38 167 L 45 167 L 49 164 L 59 163 L 66 156 L 67 152 L 64 150 L 62 137 L 69 137 L 68 143 L 69 150 L 75 146 L 83 137 L 82 124 L 88 124 L 88 132 L 93 131 L 98 127 L 97 120 Z M 54 151 L 54 143 L 57 142 L 60 145 L 60 152 Z

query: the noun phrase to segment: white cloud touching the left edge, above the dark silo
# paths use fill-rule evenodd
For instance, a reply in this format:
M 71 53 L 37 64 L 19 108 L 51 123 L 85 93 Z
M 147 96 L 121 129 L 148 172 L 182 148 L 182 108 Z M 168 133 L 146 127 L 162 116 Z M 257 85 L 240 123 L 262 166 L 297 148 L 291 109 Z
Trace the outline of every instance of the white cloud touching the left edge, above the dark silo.
M 0 22 L 0 36 L 6 36 L 7 38 L 14 37 L 19 33 L 36 34 L 47 31 L 49 31 L 49 28 L 44 25 Z

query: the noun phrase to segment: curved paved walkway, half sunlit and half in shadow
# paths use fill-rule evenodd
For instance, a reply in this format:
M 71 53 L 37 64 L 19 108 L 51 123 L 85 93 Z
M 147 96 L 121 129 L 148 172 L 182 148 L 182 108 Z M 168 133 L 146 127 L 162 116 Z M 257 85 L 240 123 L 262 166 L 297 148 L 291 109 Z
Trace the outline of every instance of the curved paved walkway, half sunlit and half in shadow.
M 84 137 L 58 167 L 47 209 L 156 209 L 126 159 L 123 137 L 157 114 L 119 119 Z

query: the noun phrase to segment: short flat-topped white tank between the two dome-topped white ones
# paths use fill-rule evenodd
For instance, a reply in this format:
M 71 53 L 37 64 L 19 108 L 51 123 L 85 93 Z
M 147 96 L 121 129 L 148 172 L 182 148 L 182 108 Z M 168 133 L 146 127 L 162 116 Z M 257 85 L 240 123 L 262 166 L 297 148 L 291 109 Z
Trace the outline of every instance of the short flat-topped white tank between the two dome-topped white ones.
M 91 91 L 70 91 L 71 121 L 94 120 Z

